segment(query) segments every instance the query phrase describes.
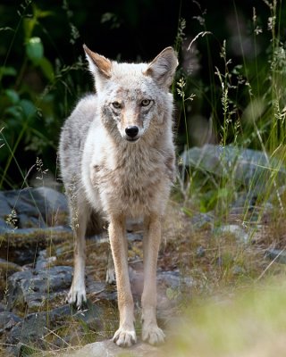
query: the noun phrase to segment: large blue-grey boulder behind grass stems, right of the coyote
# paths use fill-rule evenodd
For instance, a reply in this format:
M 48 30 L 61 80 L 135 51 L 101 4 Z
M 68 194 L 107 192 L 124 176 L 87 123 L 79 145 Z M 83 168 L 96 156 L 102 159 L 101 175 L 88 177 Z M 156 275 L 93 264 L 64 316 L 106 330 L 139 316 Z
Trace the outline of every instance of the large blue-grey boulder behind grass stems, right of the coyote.
M 278 160 L 266 154 L 238 146 L 204 145 L 181 154 L 184 166 L 211 172 L 219 177 L 231 177 L 240 184 L 261 193 L 273 178 L 279 185 L 286 180 L 286 170 Z

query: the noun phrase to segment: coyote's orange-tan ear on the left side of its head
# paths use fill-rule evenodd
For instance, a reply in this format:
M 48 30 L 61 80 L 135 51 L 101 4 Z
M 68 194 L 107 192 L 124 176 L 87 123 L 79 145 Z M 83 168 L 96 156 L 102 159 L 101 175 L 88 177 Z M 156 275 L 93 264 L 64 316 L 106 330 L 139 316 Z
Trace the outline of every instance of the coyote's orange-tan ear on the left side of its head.
M 88 59 L 89 71 L 91 71 L 91 73 L 94 75 L 96 82 L 99 80 L 101 83 L 105 79 L 110 79 L 112 62 L 110 62 L 104 56 L 92 52 L 86 45 L 83 45 L 83 49 Z

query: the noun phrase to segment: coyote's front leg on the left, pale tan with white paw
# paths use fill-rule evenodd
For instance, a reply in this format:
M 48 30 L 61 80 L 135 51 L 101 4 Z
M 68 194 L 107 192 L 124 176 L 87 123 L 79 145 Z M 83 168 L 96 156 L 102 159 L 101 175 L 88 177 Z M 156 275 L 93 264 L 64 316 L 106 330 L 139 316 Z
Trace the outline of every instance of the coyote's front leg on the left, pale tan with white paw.
M 127 347 L 136 343 L 134 304 L 128 275 L 127 240 L 124 217 L 112 217 L 109 239 L 114 257 L 120 325 L 114 334 L 116 345 Z

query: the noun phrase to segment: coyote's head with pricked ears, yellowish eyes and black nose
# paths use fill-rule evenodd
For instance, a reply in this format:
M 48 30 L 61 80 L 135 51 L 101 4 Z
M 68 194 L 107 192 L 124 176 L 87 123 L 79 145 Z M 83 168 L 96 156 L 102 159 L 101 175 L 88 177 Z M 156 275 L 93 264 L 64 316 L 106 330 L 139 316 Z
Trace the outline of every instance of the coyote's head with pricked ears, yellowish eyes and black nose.
M 139 64 L 110 61 L 87 46 L 84 50 L 96 83 L 100 116 L 115 136 L 136 142 L 170 117 L 169 88 L 178 65 L 172 47 L 152 62 Z

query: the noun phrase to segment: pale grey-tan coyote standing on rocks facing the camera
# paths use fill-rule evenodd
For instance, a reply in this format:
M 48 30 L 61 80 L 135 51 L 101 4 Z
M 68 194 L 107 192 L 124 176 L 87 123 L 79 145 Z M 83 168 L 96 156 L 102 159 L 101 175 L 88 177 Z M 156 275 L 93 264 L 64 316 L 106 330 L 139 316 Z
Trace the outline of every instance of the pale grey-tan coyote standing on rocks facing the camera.
M 120 326 L 114 342 L 136 343 L 128 275 L 126 219 L 144 221 L 142 339 L 164 342 L 156 322 L 156 262 L 164 209 L 175 176 L 172 94 L 178 65 L 172 47 L 150 63 L 110 61 L 84 46 L 95 93 L 83 97 L 65 121 L 59 157 L 75 235 L 68 302 L 80 307 L 85 288 L 85 237 L 108 222 Z

